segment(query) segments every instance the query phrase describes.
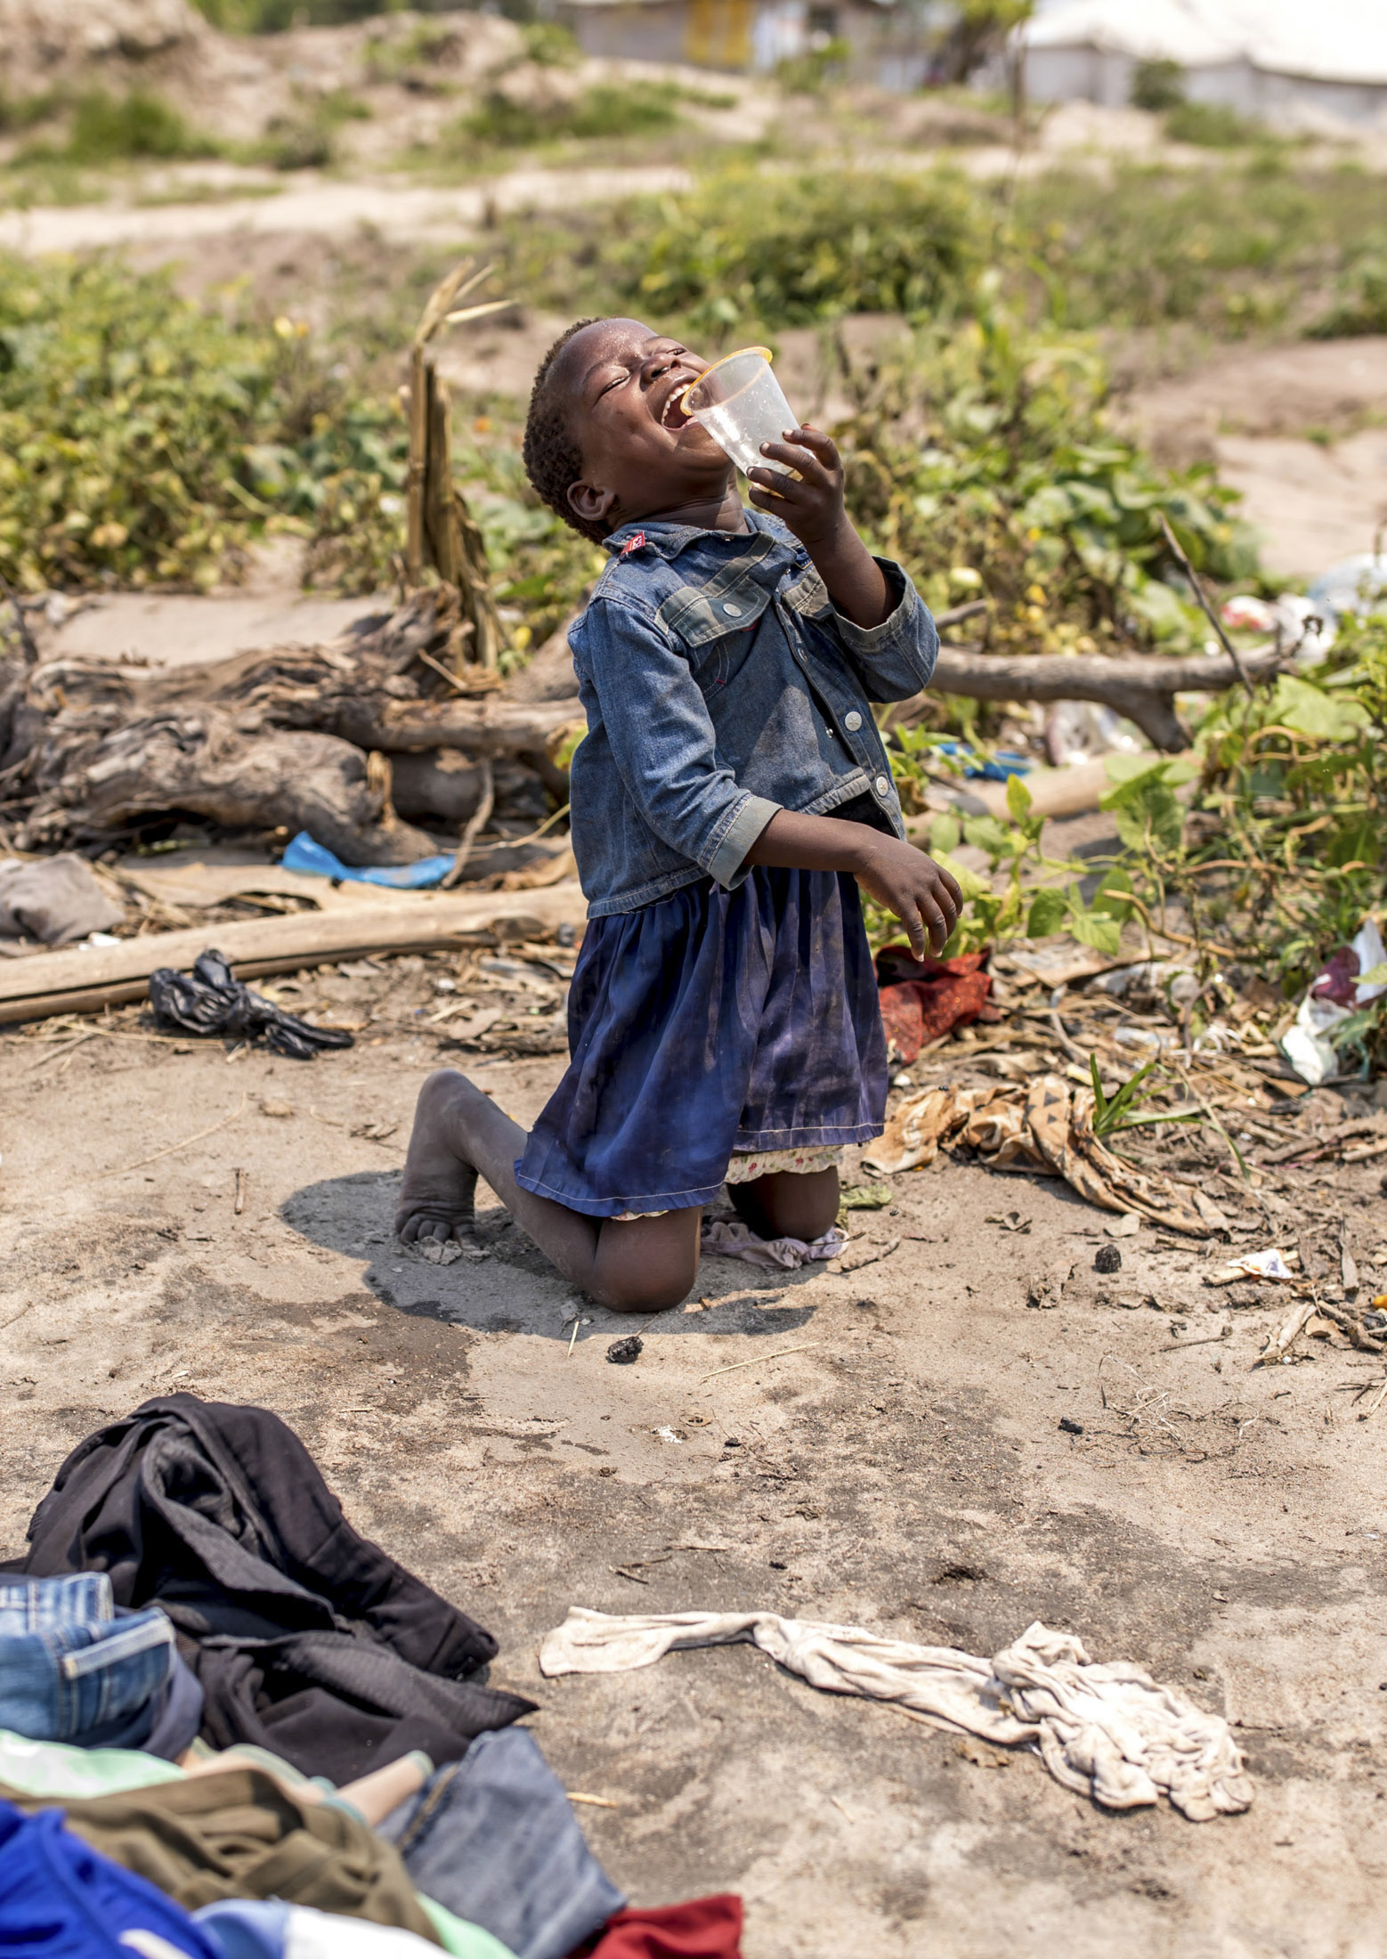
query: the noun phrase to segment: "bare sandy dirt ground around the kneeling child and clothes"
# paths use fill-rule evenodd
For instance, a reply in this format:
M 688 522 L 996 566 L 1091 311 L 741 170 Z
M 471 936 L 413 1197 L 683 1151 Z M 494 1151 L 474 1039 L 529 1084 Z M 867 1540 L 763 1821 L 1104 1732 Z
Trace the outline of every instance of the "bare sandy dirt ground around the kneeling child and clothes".
M 492 1677 L 613 1804 L 582 1820 L 617 1883 L 741 1890 L 748 1959 L 1385 1951 L 1387 1414 L 1346 1393 L 1381 1363 L 1311 1340 L 1254 1371 L 1285 1301 L 1207 1289 L 1224 1246 L 1142 1228 L 1101 1279 L 1101 1213 L 950 1162 L 852 1215 L 901 1240 L 882 1262 L 707 1260 L 609 1365 L 631 1322 L 580 1303 L 574 1342 L 570 1289 L 490 1199 L 482 1258 L 392 1236 L 415 1091 L 458 1058 L 425 1019 L 454 958 L 304 978 L 286 1001 L 360 1028 L 310 1066 L 151 1040 L 133 1011 L 80 1044 L 0 1036 L 0 1552 L 100 1422 L 174 1389 L 255 1401 L 360 1530 L 496 1630 Z M 468 1066 L 529 1121 L 562 1060 Z M 956 1042 L 915 1075 L 968 1066 Z M 1277 1236 L 1344 1217 L 1381 1289 L 1379 1170 L 1267 1170 Z M 1234 1244 L 1267 1242 L 1234 1215 Z M 1056 1267 L 1058 1309 L 1028 1309 Z M 1036 1757 L 748 1648 L 541 1681 L 570 1604 L 766 1606 L 976 1653 L 1040 1618 L 1222 1710 L 1256 1802 L 1101 1814 Z

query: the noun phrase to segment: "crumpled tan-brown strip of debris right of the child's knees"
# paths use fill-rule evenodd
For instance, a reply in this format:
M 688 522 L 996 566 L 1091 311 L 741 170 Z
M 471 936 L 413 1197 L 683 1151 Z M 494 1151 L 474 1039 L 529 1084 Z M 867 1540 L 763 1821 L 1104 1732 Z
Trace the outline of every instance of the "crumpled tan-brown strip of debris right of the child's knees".
M 1062 1075 L 1038 1075 L 1027 1087 L 923 1089 L 901 1103 L 885 1132 L 862 1152 L 862 1164 L 897 1175 L 933 1164 L 940 1144 L 976 1150 L 989 1170 L 1064 1177 L 1079 1197 L 1123 1213 L 1115 1236 L 1134 1232 L 1140 1218 L 1189 1238 L 1207 1238 L 1228 1224 L 1203 1191 L 1113 1156 L 1093 1134 L 1093 1089 L 1070 1087 Z

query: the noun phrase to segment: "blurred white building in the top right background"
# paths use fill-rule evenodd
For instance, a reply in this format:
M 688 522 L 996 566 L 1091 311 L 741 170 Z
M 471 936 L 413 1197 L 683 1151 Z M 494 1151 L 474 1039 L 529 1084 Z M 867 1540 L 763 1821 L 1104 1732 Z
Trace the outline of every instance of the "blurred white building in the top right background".
M 1271 125 L 1387 125 L 1387 0 L 1050 0 L 1021 35 L 1032 102 L 1123 108 L 1142 61 Z

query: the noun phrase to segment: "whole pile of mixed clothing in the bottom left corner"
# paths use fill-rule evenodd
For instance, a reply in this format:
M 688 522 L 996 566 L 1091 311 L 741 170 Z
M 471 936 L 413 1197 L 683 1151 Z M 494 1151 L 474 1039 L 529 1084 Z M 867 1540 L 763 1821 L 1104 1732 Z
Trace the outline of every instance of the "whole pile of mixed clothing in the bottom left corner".
M 98 1430 L 0 1567 L 0 1949 L 739 1959 L 735 1896 L 625 1908 L 494 1653 L 264 1409 Z

